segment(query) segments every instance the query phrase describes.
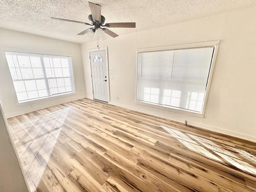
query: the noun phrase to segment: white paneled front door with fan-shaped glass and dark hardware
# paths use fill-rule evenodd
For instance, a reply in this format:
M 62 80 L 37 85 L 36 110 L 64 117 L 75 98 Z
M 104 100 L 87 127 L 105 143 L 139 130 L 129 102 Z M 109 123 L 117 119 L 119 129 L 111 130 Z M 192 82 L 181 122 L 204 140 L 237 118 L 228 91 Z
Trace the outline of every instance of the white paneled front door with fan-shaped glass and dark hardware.
M 90 52 L 93 97 L 108 102 L 106 50 Z

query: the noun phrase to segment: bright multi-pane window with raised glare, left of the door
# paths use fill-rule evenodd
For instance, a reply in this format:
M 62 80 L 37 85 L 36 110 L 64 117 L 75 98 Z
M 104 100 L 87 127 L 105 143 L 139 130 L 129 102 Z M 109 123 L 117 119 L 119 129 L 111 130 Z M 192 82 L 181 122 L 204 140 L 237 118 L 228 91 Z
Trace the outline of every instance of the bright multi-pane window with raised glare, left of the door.
M 5 52 L 18 102 L 75 91 L 71 57 Z

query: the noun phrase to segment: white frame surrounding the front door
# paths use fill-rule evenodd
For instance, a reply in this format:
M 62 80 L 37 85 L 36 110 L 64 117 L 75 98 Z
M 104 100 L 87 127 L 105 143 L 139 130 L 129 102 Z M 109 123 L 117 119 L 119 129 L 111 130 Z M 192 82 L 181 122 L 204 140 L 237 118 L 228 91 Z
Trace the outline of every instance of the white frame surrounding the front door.
M 107 76 L 107 95 L 108 95 L 108 103 L 110 102 L 110 91 L 109 91 L 109 76 L 108 76 L 108 47 L 100 47 L 100 48 L 94 48 L 94 49 L 88 49 L 88 54 L 89 54 L 89 59 L 90 59 L 90 52 L 95 52 L 95 51 L 102 51 L 105 50 L 105 54 L 106 54 L 106 76 Z M 92 81 L 92 65 L 91 65 L 91 60 L 90 60 L 90 69 L 91 69 L 91 81 Z M 93 99 L 94 99 L 94 92 L 93 92 L 93 83 L 92 83 L 92 95 L 93 95 Z M 100 101 L 100 100 L 97 100 Z M 104 102 L 104 101 L 102 101 Z

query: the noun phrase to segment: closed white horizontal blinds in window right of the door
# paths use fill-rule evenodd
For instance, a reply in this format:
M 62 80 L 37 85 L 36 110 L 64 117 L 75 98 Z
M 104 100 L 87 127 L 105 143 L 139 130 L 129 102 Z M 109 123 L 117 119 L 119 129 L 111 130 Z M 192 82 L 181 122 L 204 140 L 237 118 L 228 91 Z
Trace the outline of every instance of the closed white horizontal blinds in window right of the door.
M 138 53 L 137 100 L 202 112 L 214 46 Z

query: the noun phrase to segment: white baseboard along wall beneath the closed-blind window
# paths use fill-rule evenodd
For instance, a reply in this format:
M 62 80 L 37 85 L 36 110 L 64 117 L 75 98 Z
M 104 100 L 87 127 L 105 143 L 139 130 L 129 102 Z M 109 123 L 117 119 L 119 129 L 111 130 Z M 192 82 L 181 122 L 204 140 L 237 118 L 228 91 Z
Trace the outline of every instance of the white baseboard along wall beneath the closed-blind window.
M 149 114 L 149 115 L 158 116 L 158 117 L 161 117 L 161 118 L 166 118 L 166 119 L 173 120 L 173 121 L 176 121 L 176 122 L 184 123 L 184 119 L 170 118 L 170 116 L 167 116 L 167 115 L 164 115 L 164 114 L 159 114 L 159 113 L 156 113 L 156 112 L 153 112 L 153 111 L 150 111 L 150 110 L 144 110 L 144 109 L 140 109 L 140 108 L 136 108 L 136 107 L 126 106 L 124 104 L 120 104 L 120 103 L 116 103 L 116 102 L 109 102 L 109 104 L 112 104 L 112 105 L 115 105 L 115 106 L 118 106 L 118 107 L 122 107 L 122 108 L 127 108 L 127 109 L 134 110 L 134 111 L 138 111 L 138 112 L 142 112 L 142 113 Z M 202 123 L 198 123 L 198 122 L 192 122 L 192 121 L 189 122 L 189 125 L 196 126 L 196 127 L 202 128 L 202 129 L 210 130 L 210 131 L 214 131 L 214 132 L 218 132 L 218 133 L 221 133 L 221 134 L 225 134 L 225 135 L 229 135 L 229 136 L 249 140 L 249 141 L 252 141 L 252 142 L 256 142 L 256 136 L 246 135 L 246 134 L 226 130 L 226 129 L 223 129 L 223 128 L 210 126 L 210 125 L 202 124 Z

